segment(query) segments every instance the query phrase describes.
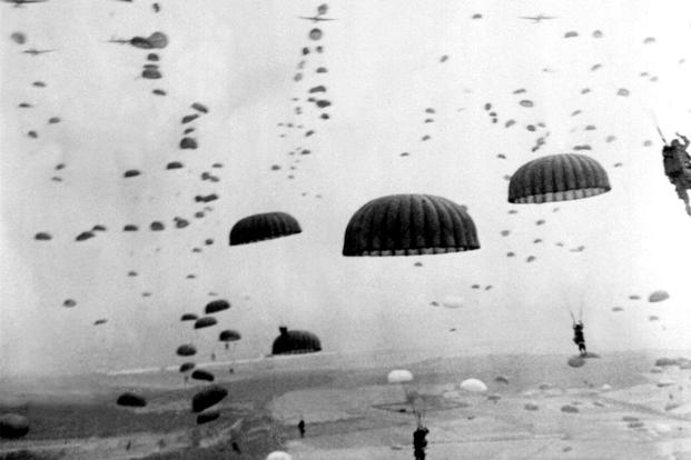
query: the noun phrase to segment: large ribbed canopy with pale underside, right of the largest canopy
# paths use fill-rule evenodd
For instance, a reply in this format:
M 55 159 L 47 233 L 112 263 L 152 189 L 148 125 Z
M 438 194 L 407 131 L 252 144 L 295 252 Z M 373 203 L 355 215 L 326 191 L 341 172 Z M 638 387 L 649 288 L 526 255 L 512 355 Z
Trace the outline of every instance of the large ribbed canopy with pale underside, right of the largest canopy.
M 579 153 L 552 154 L 529 161 L 511 176 L 509 202 L 579 200 L 610 190 L 608 173 L 594 159 Z

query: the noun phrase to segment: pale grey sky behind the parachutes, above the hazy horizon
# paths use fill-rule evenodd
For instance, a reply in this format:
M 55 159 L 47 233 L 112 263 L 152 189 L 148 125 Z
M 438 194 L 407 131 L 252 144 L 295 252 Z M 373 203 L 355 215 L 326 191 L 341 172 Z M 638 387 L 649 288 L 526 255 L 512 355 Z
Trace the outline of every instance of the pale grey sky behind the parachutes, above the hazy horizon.
M 663 174 L 655 129 L 671 138 L 690 126 L 688 1 L 336 1 L 318 41 L 298 18 L 318 2 L 159 3 L 158 13 L 141 0 L 0 4 L 0 377 L 169 366 L 190 341 L 223 356 L 226 328 L 243 333 L 235 357 L 257 357 L 279 324 L 339 353 L 571 353 L 570 310 L 583 311 L 598 352 L 691 344 L 691 218 Z M 539 13 L 556 18 L 520 18 Z M 155 31 L 169 43 L 154 50 L 162 79 L 147 80 L 149 51 L 108 40 Z M 21 52 L 30 48 L 56 51 Z M 306 101 L 316 86 L 325 110 Z M 184 126 L 194 102 L 209 111 Z M 188 126 L 196 150 L 178 147 Z M 521 164 L 584 144 L 610 192 L 507 202 L 505 177 Z M 130 169 L 141 176 L 124 178 Z M 219 180 L 203 181 L 205 171 Z M 208 193 L 219 199 L 197 219 L 194 197 Z M 482 248 L 343 257 L 353 213 L 393 193 L 466 206 Z M 228 246 L 235 222 L 269 211 L 303 232 Z M 155 220 L 166 230 L 150 231 Z M 140 231 L 124 233 L 126 223 Z M 95 224 L 107 231 L 75 241 Z M 658 289 L 671 298 L 649 303 Z M 179 321 L 215 298 L 233 306 L 217 328 Z M 463 307 L 431 304 L 451 298 Z

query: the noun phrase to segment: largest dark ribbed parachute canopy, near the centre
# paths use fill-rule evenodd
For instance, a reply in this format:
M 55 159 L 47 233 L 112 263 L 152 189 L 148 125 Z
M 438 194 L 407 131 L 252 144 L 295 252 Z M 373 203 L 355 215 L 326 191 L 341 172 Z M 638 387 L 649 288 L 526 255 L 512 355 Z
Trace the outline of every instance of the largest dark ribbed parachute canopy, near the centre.
M 431 194 L 392 194 L 358 209 L 346 227 L 344 256 L 422 256 L 480 249 L 465 207 Z

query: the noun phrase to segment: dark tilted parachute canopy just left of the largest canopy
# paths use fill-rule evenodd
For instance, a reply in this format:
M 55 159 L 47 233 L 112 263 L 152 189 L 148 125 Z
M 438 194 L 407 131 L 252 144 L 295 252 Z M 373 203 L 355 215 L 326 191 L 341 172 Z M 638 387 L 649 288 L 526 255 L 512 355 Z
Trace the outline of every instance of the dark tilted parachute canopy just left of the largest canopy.
M 273 240 L 300 233 L 300 224 L 286 212 L 265 212 L 238 220 L 230 229 L 230 246 Z

